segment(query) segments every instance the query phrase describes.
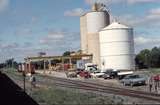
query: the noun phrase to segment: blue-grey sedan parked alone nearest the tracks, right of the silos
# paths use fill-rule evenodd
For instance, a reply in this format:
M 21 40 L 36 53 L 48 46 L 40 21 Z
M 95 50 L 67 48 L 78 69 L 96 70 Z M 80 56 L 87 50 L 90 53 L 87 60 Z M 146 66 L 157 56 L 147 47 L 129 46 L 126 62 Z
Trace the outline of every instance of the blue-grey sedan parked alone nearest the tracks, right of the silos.
M 134 86 L 134 85 L 139 85 L 139 84 L 145 85 L 146 78 L 140 75 L 127 75 L 120 82 L 123 83 L 124 86 L 126 85 Z

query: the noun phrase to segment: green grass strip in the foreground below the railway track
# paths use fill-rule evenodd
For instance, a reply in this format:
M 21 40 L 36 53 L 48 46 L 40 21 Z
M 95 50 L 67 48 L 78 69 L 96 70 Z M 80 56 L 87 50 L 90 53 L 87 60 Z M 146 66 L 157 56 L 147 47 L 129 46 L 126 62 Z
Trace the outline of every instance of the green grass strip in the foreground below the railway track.
M 81 93 L 74 89 L 58 89 L 56 87 L 35 90 L 33 99 L 45 105 L 122 105 L 119 97 L 107 97 L 94 93 Z M 119 101 L 115 101 L 117 99 Z

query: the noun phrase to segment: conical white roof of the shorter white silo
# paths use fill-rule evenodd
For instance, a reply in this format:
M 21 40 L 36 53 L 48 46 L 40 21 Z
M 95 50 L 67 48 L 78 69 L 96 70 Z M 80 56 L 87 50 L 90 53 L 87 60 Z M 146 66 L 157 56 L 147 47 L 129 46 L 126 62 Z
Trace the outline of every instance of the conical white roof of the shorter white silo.
M 110 29 L 124 29 L 124 28 L 131 28 L 131 27 L 128 27 L 124 24 L 121 24 L 119 22 L 113 22 L 112 24 L 108 25 L 107 27 L 103 28 L 102 30 L 110 30 Z

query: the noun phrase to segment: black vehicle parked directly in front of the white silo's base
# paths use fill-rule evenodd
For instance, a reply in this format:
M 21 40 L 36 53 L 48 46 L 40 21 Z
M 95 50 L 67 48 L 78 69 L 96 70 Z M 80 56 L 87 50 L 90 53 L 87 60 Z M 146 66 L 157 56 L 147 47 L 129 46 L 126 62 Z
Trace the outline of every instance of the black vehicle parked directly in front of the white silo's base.
M 116 78 L 116 77 L 118 77 L 117 71 L 113 71 L 113 69 L 107 70 L 105 72 L 105 74 L 103 75 L 104 79 L 113 79 L 113 78 Z

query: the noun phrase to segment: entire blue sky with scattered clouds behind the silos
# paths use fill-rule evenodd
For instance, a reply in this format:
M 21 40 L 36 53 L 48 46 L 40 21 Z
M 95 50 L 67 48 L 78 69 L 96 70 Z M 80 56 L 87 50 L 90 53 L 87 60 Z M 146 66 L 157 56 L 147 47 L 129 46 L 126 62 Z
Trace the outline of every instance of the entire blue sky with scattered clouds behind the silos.
M 79 16 L 95 1 L 134 28 L 136 53 L 160 45 L 160 0 L 0 0 L 0 62 L 79 50 Z

